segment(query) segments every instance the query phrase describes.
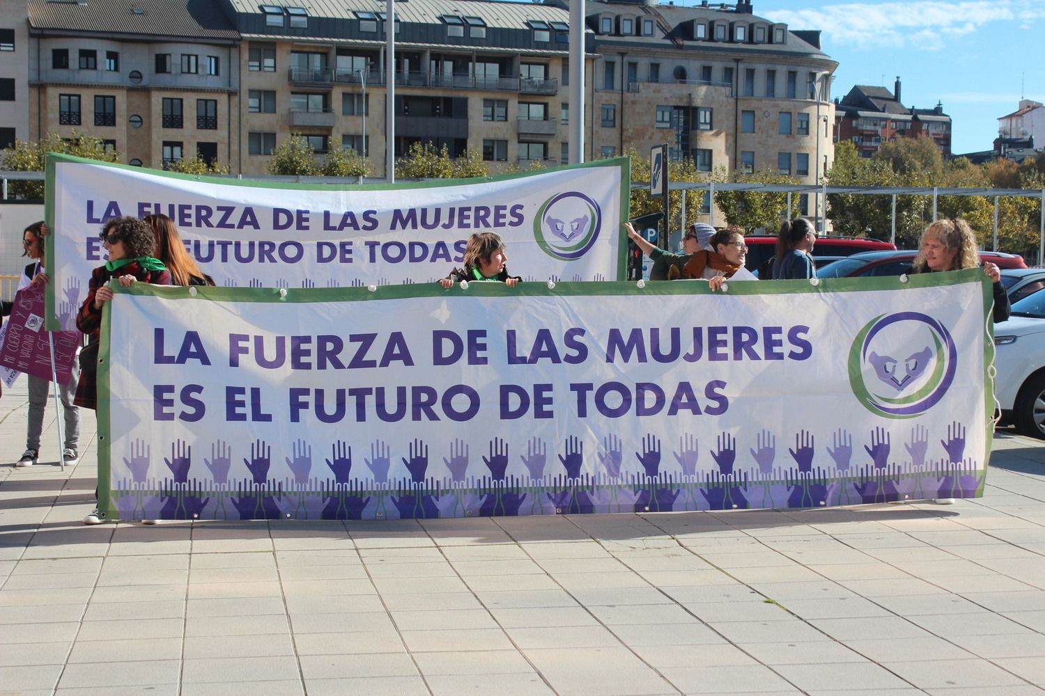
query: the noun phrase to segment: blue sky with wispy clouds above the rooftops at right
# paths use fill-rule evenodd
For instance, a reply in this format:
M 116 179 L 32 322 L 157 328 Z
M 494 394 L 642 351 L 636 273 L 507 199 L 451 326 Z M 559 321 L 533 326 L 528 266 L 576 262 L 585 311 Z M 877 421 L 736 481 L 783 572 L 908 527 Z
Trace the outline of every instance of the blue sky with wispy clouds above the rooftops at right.
M 954 122 L 955 153 L 991 149 L 998 117 L 1016 111 L 1021 94 L 1045 102 L 1045 0 L 752 4 L 760 17 L 822 31 L 825 52 L 839 64 L 832 96 L 854 85 L 891 91 L 900 75 L 905 105 L 942 101 Z

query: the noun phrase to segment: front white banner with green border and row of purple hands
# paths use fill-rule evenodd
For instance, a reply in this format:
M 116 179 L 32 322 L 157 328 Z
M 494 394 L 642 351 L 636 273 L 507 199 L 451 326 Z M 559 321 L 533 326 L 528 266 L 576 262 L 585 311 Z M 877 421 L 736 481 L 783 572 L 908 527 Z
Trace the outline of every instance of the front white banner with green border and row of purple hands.
M 982 271 L 870 281 L 119 291 L 121 519 L 818 507 L 981 495 Z

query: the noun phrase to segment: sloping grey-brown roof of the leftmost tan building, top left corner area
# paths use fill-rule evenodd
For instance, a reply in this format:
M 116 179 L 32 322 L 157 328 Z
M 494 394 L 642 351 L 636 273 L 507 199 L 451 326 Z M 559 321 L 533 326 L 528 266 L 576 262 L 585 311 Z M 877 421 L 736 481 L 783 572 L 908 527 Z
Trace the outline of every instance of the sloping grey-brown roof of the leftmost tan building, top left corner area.
M 138 9 L 140 11 L 134 11 Z M 28 0 L 30 30 L 237 41 L 214 0 Z

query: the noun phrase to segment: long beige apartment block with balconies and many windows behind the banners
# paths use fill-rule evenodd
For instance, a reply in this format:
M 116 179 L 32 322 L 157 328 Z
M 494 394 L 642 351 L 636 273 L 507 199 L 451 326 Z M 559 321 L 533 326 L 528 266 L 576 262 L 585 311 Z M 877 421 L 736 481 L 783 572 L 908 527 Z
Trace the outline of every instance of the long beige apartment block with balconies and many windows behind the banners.
M 668 143 L 709 173 L 770 167 L 808 183 L 831 162 L 837 64 L 818 31 L 760 18 L 749 0 L 589 0 L 582 116 L 568 107 L 564 0 L 397 2 L 392 66 L 385 10 L 375 0 L 28 0 L 29 135 L 75 128 L 130 164 L 199 151 L 247 174 L 263 173 L 292 134 L 321 153 L 365 151 L 378 175 L 386 147 L 401 155 L 427 141 L 451 155 L 481 150 L 495 172 L 565 164 L 580 117 L 585 160 Z

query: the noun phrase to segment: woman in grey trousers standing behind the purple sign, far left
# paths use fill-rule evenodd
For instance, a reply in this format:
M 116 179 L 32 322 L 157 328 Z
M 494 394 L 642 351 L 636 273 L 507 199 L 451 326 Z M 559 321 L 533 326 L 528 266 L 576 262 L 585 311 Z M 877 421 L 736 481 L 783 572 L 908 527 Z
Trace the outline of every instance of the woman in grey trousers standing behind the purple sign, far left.
M 33 222 L 22 233 L 22 256 L 33 259 L 33 262 L 25 267 L 22 277 L 19 279 L 18 289 L 22 290 L 30 285 L 45 284 L 48 282 L 46 269 L 44 268 L 44 236 L 47 226 L 44 221 Z M 3 314 L 10 314 L 11 303 L 3 304 Z M 50 392 L 51 381 L 34 375 L 26 375 L 29 381 L 29 421 L 25 435 L 25 453 L 19 459 L 16 466 L 32 466 L 40 458 L 40 435 L 44 429 L 44 411 L 47 407 L 47 397 Z M 72 374 L 69 376 L 69 383 L 60 385 L 59 394 L 62 398 L 62 410 L 65 414 L 65 442 L 62 450 L 62 460 L 67 464 L 76 463 L 79 457 L 77 447 L 79 445 L 79 409 L 73 405 L 73 398 L 76 393 L 76 382 L 79 379 L 79 370 L 73 364 Z

